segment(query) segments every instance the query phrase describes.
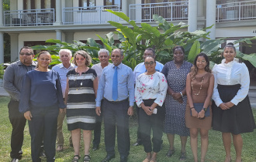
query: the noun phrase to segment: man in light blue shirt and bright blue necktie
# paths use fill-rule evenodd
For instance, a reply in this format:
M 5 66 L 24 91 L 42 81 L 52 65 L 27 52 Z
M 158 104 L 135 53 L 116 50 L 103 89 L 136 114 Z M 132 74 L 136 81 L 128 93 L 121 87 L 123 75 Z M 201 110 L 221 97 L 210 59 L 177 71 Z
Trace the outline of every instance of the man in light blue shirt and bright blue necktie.
M 133 70 L 122 63 L 121 49 L 112 50 L 111 60 L 113 64 L 102 71 L 96 98 L 96 113 L 100 116 L 102 110 L 105 124 L 107 155 L 102 162 L 115 157 L 116 127 L 120 161 L 126 162 L 130 151 L 129 116 L 133 115 L 134 103 Z

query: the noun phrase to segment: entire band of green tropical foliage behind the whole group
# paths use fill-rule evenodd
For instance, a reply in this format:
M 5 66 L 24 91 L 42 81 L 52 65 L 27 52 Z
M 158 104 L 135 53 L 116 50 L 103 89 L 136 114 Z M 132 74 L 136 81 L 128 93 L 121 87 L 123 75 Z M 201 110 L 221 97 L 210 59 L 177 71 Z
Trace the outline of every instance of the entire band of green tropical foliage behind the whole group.
M 75 52 L 77 50 L 83 49 L 87 51 L 93 59 L 92 63 L 99 62 L 98 51 L 99 49 L 105 48 L 109 52 L 112 49 L 120 48 L 124 50 L 125 57 L 123 63 L 134 69 L 137 63 L 143 62 L 144 50 L 151 47 L 156 50 L 157 61 L 165 63 L 172 59 L 173 53 L 172 49 L 175 46 L 183 46 L 185 49 L 185 57 L 189 62 L 195 59 L 195 56 L 199 52 L 205 52 L 209 59 L 211 60 L 211 67 L 214 63 L 220 63 L 221 53 L 223 49 L 220 48 L 223 42 L 226 42 L 227 38 L 220 39 L 209 39 L 207 36 L 209 32 L 206 29 L 197 30 L 195 32 L 182 32 L 182 29 L 188 27 L 184 23 L 180 22 L 178 25 L 173 23 L 168 23 L 161 16 L 154 15 L 153 18 L 157 23 L 157 26 L 151 26 L 147 23 L 141 23 L 138 26 L 134 21 L 130 21 L 130 18 L 126 16 L 123 12 L 114 12 L 112 10 L 106 10 L 119 16 L 119 18 L 128 22 L 128 25 L 123 25 L 119 22 L 109 21 L 109 24 L 116 27 L 116 32 L 109 32 L 106 34 L 106 38 L 102 38 L 98 35 L 99 39 L 102 41 L 102 45 L 96 43 L 94 39 L 88 38 L 86 43 L 74 41 L 74 44 L 61 42 L 57 39 L 49 39 L 47 42 L 56 43 L 52 46 L 33 46 L 33 49 L 48 50 L 53 54 L 51 65 L 60 62 L 57 52 L 60 49 L 71 49 Z M 113 35 L 117 35 L 119 43 L 115 44 Z M 206 41 L 201 41 L 200 39 L 205 39 Z M 234 43 L 246 42 L 251 44 L 251 40 L 254 38 L 239 39 Z M 200 40 L 200 41 L 199 41 Z M 141 43 L 144 42 L 144 43 Z M 244 55 L 244 53 L 237 52 L 237 58 L 248 60 L 253 66 L 256 67 L 256 54 Z

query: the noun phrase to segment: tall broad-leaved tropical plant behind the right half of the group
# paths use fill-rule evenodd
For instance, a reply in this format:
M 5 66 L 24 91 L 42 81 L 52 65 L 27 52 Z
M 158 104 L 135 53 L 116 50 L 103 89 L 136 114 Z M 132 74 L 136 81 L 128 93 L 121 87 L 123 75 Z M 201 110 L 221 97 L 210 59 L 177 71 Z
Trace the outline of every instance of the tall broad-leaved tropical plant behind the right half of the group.
M 119 16 L 119 18 L 133 26 L 133 29 L 130 29 L 118 22 L 109 21 L 111 25 L 117 28 L 118 34 L 120 35 L 121 33 L 124 36 L 125 39 L 123 39 L 123 42 L 129 42 L 126 44 L 122 43 L 126 51 L 130 51 L 131 49 L 132 51 L 141 51 L 141 49 L 153 47 L 156 49 L 157 60 L 165 63 L 172 58 L 172 49 L 175 46 L 183 46 L 185 56 L 188 58 L 189 62 L 192 62 L 199 52 L 204 52 L 209 56 L 211 66 L 213 66 L 214 63 L 220 63 L 222 59 L 221 53 L 223 49 L 221 49 L 220 46 L 226 42 L 227 38 L 209 39 L 207 37 L 209 32 L 206 32 L 206 29 L 210 29 L 212 26 L 206 29 L 196 30 L 195 32 L 182 32 L 181 29 L 187 28 L 188 25 L 182 22 L 178 25 L 174 25 L 173 23 L 168 23 L 161 16 L 153 15 L 157 27 L 153 27 L 147 23 L 141 23 L 141 27 L 139 27 L 134 21 L 130 21 L 130 18 L 122 12 L 107 11 Z M 199 39 L 206 39 L 206 41 L 199 41 Z M 234 44 L 246 42 L 250 45 L 251 40 L 254 39 L 256 39 L 256 37 L 239 39 L 235 41 Z M 144 46 L 140 45 L 141 41 L 145 42 Z M 256 53 L 244 55 L 244 53 L 238 51 L 237 58 L 248 60 L 256 67 Z

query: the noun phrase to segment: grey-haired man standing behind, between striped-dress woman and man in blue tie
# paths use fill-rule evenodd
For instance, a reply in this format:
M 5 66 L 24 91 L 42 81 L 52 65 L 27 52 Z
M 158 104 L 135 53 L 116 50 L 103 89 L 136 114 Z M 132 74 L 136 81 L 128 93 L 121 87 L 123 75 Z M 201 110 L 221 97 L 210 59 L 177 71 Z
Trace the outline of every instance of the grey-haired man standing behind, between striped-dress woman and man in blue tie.
M 99 79 L 102 76 L 102 70 L 109 66 L 109 51 L 107 49 L 100 49 L 98 52 L 99 55 L 99 63 L 92 66 L 92 69 L 95 69 Z M 102 130 L 102 116 L 96 116 L 96 124 L 94 129 L 94 138 L 93 138 L 93 147 L 92 150 L 99 150 L 100 136 Z

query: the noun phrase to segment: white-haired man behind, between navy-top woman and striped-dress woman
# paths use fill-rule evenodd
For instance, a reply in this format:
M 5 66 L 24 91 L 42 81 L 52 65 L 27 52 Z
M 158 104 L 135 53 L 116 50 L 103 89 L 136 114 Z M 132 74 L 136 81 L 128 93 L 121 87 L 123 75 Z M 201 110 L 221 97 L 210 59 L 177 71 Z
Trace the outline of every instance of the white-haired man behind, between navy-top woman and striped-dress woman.
M 67 86 L 67 72 L 71 69 L 74 69 L 76 66 L 71 63 L 72 59 L 72 52 L 69 49 L 61 49 L 59 51 L 59 56 L 61 59 L 60 64 L 54 66 L 52 69 L 59 73 L 61 77 L 61 89 L 62 89 L 62 94 L 63 98 L 65 100 L 65 90 Z M 63 145 L 64 145 L 64 137 L 62 133 L 62 125 L 63 125 L 63 120 L 65 117 L 66 113 L 59 113 L 59 116 L 57 117 L 57 151 L 62 151 L 63 150 Z M 71 140 L 70 140 L 70 145 L 72 145 Z

